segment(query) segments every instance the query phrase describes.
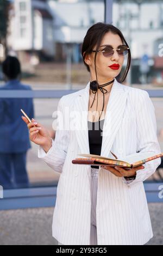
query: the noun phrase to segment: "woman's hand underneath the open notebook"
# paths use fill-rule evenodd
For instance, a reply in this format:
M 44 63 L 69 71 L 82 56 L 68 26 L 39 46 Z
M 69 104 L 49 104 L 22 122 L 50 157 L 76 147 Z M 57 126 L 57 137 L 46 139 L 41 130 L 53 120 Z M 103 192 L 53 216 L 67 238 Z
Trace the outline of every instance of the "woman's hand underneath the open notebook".
M 135 176 L 137 170 L 144 169 L 143 165 L 134 167 L 132 169 L 125 170 L 123 167 L 110 167 L 110 166 L 101 166 L 104 170 L 109 170 L 111 173 L 116 175 L 117 177 L 129 177 Z

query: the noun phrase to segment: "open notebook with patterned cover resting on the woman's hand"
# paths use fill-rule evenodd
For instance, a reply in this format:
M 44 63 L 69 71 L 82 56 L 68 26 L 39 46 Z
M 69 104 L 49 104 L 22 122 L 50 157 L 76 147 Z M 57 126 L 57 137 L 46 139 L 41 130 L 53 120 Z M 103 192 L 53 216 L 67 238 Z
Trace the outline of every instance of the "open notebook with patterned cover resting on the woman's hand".
M 79 156 L 84 156 L 83 158 L 76 158 L 72 160 L 74 164 L 89 164 L 93 166 L 120 166 L 126 167 L 125 169 L 131 169 L 133 167 L 140 166 L 148 161 L 152 161 L 158 157 L 163 156 L 163 153 L 158 155 L 153 155 L 152 152 L 142 152 L 135 153 L 129 156 L 123 157 L 123 159 L 118 159 L 116 155 L 111 153 L 114 158 L 108 158 L 104 156 L 91 155 L 91 154 L 78 154 Z

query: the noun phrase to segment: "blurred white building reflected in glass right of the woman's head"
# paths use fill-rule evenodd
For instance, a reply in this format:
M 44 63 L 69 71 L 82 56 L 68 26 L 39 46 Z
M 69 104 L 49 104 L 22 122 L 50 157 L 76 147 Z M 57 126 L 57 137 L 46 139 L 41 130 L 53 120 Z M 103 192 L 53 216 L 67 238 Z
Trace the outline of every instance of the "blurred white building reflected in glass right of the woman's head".
M 148 74 L 145 82 L 162 83 L 163 2 L 116 0 L 112 16 L 131 48 L 132 80 L 141 82 L 142 72 Z

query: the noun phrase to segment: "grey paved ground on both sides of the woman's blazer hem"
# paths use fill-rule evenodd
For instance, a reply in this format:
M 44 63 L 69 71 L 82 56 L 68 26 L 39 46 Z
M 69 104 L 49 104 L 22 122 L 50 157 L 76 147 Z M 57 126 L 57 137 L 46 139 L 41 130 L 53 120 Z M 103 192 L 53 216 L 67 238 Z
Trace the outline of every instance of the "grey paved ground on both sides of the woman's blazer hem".
M 154 237 L 163 245 L 163 204 L 149 203 Z M 0 211 L 0 245 L 57 245 L 52 237 L 53 208 Z

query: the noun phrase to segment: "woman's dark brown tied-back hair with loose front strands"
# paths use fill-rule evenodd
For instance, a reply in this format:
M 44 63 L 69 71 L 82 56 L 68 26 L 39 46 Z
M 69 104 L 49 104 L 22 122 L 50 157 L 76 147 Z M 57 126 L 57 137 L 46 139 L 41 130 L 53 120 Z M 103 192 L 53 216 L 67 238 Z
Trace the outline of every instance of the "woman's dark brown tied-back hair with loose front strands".
M 82 56 L 83 56 L 84 65 L 86 65 L 87 71 L 90 72 L 90 68 L 89 68 L 89 65 L 87 65 L 85 63 L 86 55 L 92 53 L 93 47 L 96 46 L 96 52 L 95 52 L 95 72 L 96 72 L 97 52 L 99 50 L 99 46 L 101 45 L 103 36 L 108 32 L 119 35 L 122 40 L 122 43 L 128 46 L 127 41 L 124 39 L 124 36 L 123 36 L 122 32 L 120 31 L 120 29 L 116 28 L 115 26 L 113 26 L 111 24 L 105 24 L 103 22 L 98 22 L 98 23 L 94 24 L 93 26 L 91 26 L 88 29 L 88 31 L 85 35 L 84 41 L 83 41 L 83 45 L 82 45 Z M 120 78 L 120 81 L 118 81 L 120 83 L 126 79 L 129 68 L 130 68 L 130 63 L 131 63 L 130 50 L 128 50 L 127 56 L 128 57 L 127 57 L 126 70 L 124 71 L 123 76 Z M 96 72 L 96 79 L 97 79 L 97 72 Z

